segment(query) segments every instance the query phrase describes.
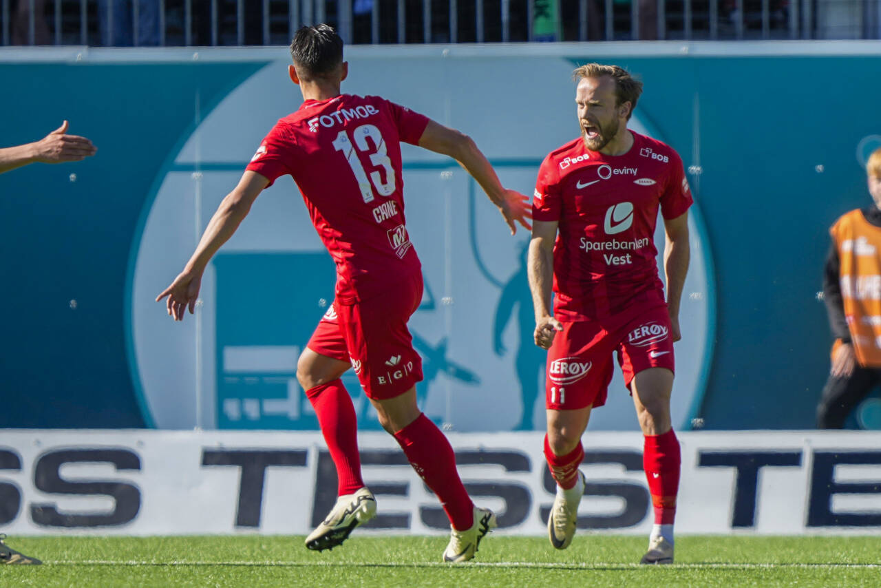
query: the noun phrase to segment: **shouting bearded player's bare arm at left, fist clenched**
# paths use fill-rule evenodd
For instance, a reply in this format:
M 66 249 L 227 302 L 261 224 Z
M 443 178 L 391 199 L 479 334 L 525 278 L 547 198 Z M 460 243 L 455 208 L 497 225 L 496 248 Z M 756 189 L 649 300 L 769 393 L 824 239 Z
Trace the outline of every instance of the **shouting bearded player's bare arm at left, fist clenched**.
M 553 287 L 553 243 L 557 238 L 558 222 L 536 220 L 532 224 L 532 240 L 529 241 L 527 272 L 532 305 L 536 311 L 536 345 L 548 349 L 557 331 L 563 325 L 551 315 L 551 292 Z

